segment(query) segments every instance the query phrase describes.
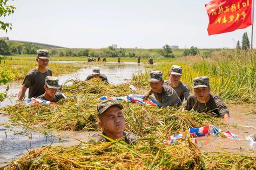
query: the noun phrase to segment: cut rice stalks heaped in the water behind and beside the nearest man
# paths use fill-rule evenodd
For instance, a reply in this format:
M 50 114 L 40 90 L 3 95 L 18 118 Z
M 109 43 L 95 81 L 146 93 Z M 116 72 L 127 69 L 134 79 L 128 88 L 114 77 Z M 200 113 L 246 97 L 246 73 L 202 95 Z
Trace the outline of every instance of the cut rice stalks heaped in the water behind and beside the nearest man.
M 145 86 L 137 86 L 141 93 Z M 97 124 L 96 105 L 102 96 L 125 96 L 131 92 L 129 85 L 106 85 L 102 81 L 74 80 L 73 85 L 64 86 L 62 92 L 76 95 L 65 98 L 58 105 L 24 105 L 7 106 L 2 109 L 10 120 L 18 125 L 38 130 L 39 127 L 50 130 L 100 131 Z M 175 108 L 158 108 L 140 104 L 124 105 L 126 131 L 139 136 L 149 134 L 165 138 L 167 134 L 184 132 L 189 127 L 207 124 L 223 125 L 220 118 L 201 113 L 182 113 Z M 38 115 L 39 114 L 39 115 Z M 143 120 L 143 121 L 141 121 Z

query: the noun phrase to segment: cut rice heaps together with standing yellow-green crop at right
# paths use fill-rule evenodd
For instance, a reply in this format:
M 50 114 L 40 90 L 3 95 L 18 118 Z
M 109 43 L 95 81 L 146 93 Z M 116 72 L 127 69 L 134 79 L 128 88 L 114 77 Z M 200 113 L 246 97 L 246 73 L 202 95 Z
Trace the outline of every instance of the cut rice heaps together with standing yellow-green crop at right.
M 226 56 L 229 56 L 228 58 Z M 184 57 L 155 65 L 164 79 L 168 79 L 170 66 L 180 65 L 182 81 L 192 90 L 194 77 L 207 75 L 211 91 L 227 102 L 254 103 L 256 101 L 256 57 L 254 52 L 216 52 L 209 59 Z M 50 67 L 50 65 L 49 65 Z M 152 69 L 152 67 L 150 67 Z M 25 72 L 25 71 L 24 71 Z M 57 71 L 56 71 L 57 72 Z M 149 89 L 148 74 L 134 75 L 131 84 L 142 93 Z M 96 105 L 101 96 L 125 96 L 132 91 L 129 85 L 106 85 L 97 79 L 71 80 L 62 92 L 68 97 L 56 105 L 14 105 L 1 109 L 11 123 L 32 131 L 101 131 L 98 126 Z M 141 139 L 135 145 L 122 140 L 108 143 L 65 146 L 43 146 L 29 150 L 3 169 L 138 169 L 138 170 L 246 170 L 256 169 L 256 151 L 243 153 L 202 152 L 191 138 L 180 139 L 167 146 L 163 141 L 173 134 L 186 132 L 190 127 L 214 124 L 228 126 L 221 118 L 209 114 L 181 112 L 179 108 L 120 102 L 124 108 L 125 131 L 135 133 Z

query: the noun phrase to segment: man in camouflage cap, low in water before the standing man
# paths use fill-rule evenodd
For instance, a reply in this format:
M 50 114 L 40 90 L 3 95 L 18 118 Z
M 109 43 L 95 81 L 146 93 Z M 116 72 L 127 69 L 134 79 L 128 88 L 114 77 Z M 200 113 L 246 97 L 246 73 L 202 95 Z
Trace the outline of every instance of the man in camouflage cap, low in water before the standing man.
M 64 96 L 60 92 L 57 92 L 58 89 L 61 89 L 61 86 L 59 85 L 59 79 L 56 77 L 47 76 L 45 78 L 44 89 L 45 93 L 38 96 L 38 99 L 56 103 L 61 98 L 64 98 Z

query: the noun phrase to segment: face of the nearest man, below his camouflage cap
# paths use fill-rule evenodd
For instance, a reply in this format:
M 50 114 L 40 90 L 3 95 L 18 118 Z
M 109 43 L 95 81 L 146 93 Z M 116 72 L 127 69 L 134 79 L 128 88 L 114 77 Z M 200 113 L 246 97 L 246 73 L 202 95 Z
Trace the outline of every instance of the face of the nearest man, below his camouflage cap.
M 100 115 L 99 125 L 104 131 L 118 134 L 125 128 L 124 116 L 117 106 L 108 108 Z

